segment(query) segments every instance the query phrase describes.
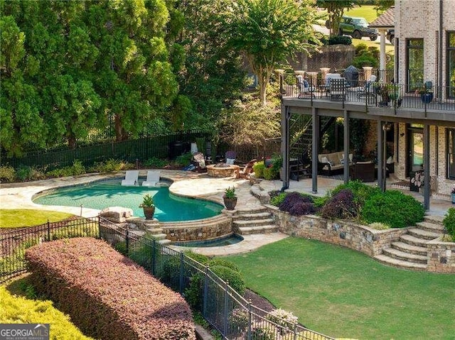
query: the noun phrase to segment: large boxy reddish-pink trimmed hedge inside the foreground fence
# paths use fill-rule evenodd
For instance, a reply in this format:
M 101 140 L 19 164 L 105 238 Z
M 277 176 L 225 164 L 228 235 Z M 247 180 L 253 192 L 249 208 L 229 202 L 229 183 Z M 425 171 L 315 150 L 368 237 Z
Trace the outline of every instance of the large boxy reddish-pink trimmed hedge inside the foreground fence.
M 30 282 L 97 339 L 195 340 L 191 309 L 129 258 L 95 238 L 26 251 Z

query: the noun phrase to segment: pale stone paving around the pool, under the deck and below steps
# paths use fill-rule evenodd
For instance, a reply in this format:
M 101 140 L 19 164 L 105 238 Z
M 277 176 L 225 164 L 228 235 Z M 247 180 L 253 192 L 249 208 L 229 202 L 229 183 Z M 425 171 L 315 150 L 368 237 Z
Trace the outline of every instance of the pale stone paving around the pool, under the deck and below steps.
M 140 177 L 146 177 L 146 170 L 140 170 Z M 43 206 L 40 204 L 34 204 L 32 198 L 34 195 L 43 192 L 45 190 L 51 190 L 58 187 L 65 187 L 70 185 L 80 185 L 87 182 L 96 180 L 104 180 L 106 178 L 123 178 L 124 172 L 118 172 L 109 175 L 99 174 L 88 174 L 76 177 L 63 177 L 53 178 L 50 180 L 39 180 L 34 182 L 21 182 L 21 183 L 1 183 L 0 187 L 0 206 L 2 209 L 43 209 L 53 210 L 58 212 L 68 212 L 75 215 L 81 215 L 80 207 L 59 207 L 59 206 Z M 168 180 L 172 180 L 173 184 L 169 187 L 169 190 L 173 194 L 189 197 L 200 197 L 203 199 L 209 199 L 214 202 L 223 204 L 223 193 L 227 187 L 235 187 L 235 193 L 237 194 L 237 209 L 254 209 L 261 207 L 259 199 L 254 197 L 251 192 L 250 182 L 243 179 L 235 179 L 233 177 L 217 178 L 209 177 L 206 173 L 188 172 L 180 170 L 161 170 L 161 177 Z M 336 185 L 341 184 L 341 180 L 336 180 L 328 177 L 318 177 L 318 196 L 326 194 L 328 190 L 331 190 Z M 387 182 L 387 187 L 390 187 L 392 180 Z M 372 183 L 375 185 L 375 183 Z M 263 180 L 260 182 L 260 186 L 263 190 L 281 190 L 282 181 Z M 303 179 L 299 181 L 291 181 L 289 189 L 287 191 L 297 191 L 311 193 L 312 180 Z M 404 191 L 406 194 L 412 194 L 416 199 L 423 202 L 422 194 L 418 192 Z M 439 199 L 431 199 L 430 209 L 427 214 L 435 216 L 444 216 L 447 209 L 453 207 L 453 204 L 449 201 L 443 201 Z M 92 217 L 97 216 L 99 210 L 82 207 L 82 216 Z M 278 241 L 282 238 L 286 238 L 286 234 L 274 233 L 274 234 L 256 234 L 256 235 L 245 235 L 245 240 L 233 244 L 230 246 L 223 247 L 207 247 L 207 248 L 192 248 L 197 253 L 204 253 L 208 256 L 226 256 L 233 253 L 245 253 L 252 251 L 263 246 L 264 244 Z

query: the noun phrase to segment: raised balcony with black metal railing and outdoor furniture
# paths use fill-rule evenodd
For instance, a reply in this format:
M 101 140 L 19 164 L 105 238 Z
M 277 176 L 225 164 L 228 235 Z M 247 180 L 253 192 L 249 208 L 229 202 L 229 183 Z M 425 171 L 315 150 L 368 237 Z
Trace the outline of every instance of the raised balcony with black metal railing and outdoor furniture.
M 385 72 L 377 74 L 380 79 L 392 79 Z M 358 80 L 341 77 L 332 85 L 323 72 L 307 72 L 306 76 L 304 87 L 296 82 L 292 84 L 295 77 L 283 75 L 284 105 L 338 111 L 347 109 L 368 115 L 395 116 L 400 120 L 450 121 L 452 124 L 455 121 L 454 87 L 369 82 L 363 72 Z M 451 94 L 451 97 L 446 94 Z

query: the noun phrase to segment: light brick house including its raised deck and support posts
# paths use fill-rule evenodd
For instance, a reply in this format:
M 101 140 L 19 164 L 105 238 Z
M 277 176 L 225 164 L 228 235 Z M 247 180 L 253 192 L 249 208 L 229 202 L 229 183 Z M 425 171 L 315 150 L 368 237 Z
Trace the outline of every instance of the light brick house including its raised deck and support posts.
M 292 160 L 296 157 L 291 154 L 291 117 L 311 116 L 309 155 L 314 192 L 318 167 L 321 169 L 318 155 L 322 120 L 342 117 L 343 159 L 348 159 L 352 150 L 349 119 L 368 120 L 373 126 L 368 139 L 375 141 L 378 150 L 376 171 L 380 187 L 385 188 L 385 149 L 390 144 L 398 179 L 410 181 L 418 172 L 423 183 L 430 183 L 422 187 L 427 209 L 430 197 L 450 199 L 455 187 L 455 0 L 395 1 L 395 8 L 387 11 L 387 17 L 394 18 L 395 70 L 387 73 L 366 67 L 358 82 L 343 85 L 337 96 L 330 93 L 324 78 L 328 70 L 317 76 L 316 72 L 296 71 L 309 79 L 314 91 L 282 89 L 284 188 L 289 187 Z M 383 38 L 380 65 L 384 67 L 385 31 L 392 23 L 378 18 L 374 25 Z M 378 75 L 374 87 L 367 85 L 371 72 Z M 341 77 L 344 79 L 343 73 Z M 381 97 L 385 92 L 388 100 Z M 343 165 L 343 178 L 350 178 L 348 163 Z

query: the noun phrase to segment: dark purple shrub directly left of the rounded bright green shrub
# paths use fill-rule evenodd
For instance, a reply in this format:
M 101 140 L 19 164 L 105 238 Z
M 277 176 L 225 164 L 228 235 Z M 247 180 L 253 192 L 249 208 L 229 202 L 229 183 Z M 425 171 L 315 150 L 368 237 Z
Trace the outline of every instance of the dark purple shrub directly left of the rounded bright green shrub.
M 353 192 L 349 189 L 340 190 L 328 199 L 320 212 L 326 219 L 353 219 L 357 216 Z

